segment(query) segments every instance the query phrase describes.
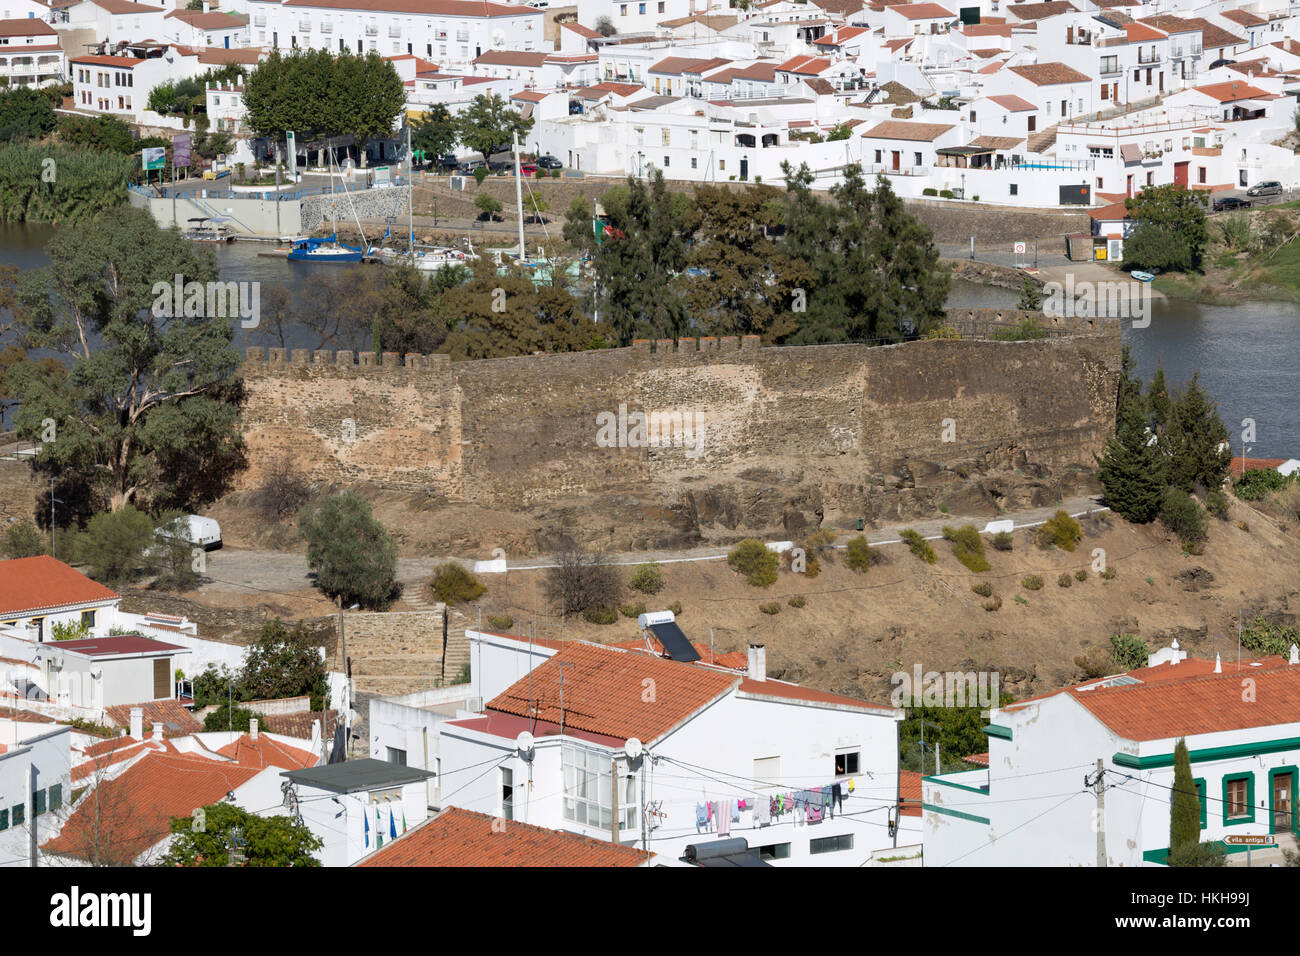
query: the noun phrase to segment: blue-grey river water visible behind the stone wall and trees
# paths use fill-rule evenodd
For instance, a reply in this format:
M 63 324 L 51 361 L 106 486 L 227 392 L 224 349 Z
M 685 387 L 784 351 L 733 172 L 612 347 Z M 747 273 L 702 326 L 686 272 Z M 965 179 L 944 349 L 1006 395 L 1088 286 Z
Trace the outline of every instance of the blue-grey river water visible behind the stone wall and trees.
M 52 234 L 51 226 L 0 224 L 0 264 L 21 269 L 44 265 L 42 250 Z M 320 271 L 338 268 L 257 255 L 268 247 L 260 242 L 216 246 L 222 278 L 283 284 L 302 291 Z M 1017 298 L 1011 290 L 958 281 L 949 304 L 1006 308 L 1015 306 Z M 1234 454 L 1240 454 L 1243 419 L 1252 419 L 1252 455 L 1300 458 L 1300 307 L 1280 302 L 1201 306 L 1157 299 L 1150 325 L 1138 329 L 1126 321 L 1123 334 L 1143 378 L 1164 365 L 1166 380 L 1176 386 L 1200 371 L 1201 385 L 1219 403 Z M 256 330 L 237 329 L 235 343 L 242 349 L 266 342 Z

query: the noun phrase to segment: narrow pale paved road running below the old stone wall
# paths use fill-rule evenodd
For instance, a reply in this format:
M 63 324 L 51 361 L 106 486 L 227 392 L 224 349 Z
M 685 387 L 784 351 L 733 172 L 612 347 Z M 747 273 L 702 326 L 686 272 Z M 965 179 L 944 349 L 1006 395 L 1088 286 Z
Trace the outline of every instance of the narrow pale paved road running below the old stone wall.
M 866 537 L 872 545 L 894 545 L 901 544 L 898 532 L 906 528 L 914 528 L 927 540 L 935 541 L 942 537 L 940 529 L 945 524 L 974 524 L 976 528 L 983 529 L 989 520 L 1011 520 L 1017 528 L 1030 528 L 1045 522 L 1056 514 L 1057 509 L 1065 509 L 1076 518 L 1092 511 L 1108 510 L 1098 503 L 1096 496 L 1078 497 L 1069 498 L 1060 505 L 1052 505 L 1049 507 L 1027 509 L 1023 511 L 1005 514 L 997 519 L 989 519 L 987 516 L 974 518 L 963 515 L 945 515 L 935 520 L 904 522 L 876 531 L 868 531 L 866 532 Z M 845 538 L 849 536 L 852 536 L 852 532 L 844 535 Z M 846 545 L 841 541 L 837 546 L 844 548 Z M 641 564 L 647 561 L 656 561 L 662 564 L 688 561 L 722 561 L 727 557 L 728 550 L 731 549 L 696 548 L 676 551 L 621 551 L 607 555 L 607 563 L 616 566 L 632 566 Z M 433 574 L 433 568 L 445 561 L 456 561 L 468 568 L 474 568 L 476 563 L 478 563 L 478 572 L 486 572 L 486 568 L 481 566 L 481 562 L 476 562 L 472 558 L 459 558 L 452 555 L 433 558 L 400 558 L 398 561 L 398 580 L 408 585 L 408 592 L 413 591 L 410 585 L 428 580 L 428 578 Z M 306 588 L 311 588 L 313 584 L 307 570 L 307 558 L 300 553 L 224 548 L 220 551 L 212 551 L 208 554 L 207 562 L 208 566 L 205 576 L 209 579 L 209 583 L 200 588 L 200 591 L 204 592 L 237 591 L 276 594 L 299 592 Z M 533 571 L 554 567 L 554 563 L 551 563 L 547 557 L 519 558 L 517 561 L 510 561 L 507 558 L 507 563 L 512 571 Z

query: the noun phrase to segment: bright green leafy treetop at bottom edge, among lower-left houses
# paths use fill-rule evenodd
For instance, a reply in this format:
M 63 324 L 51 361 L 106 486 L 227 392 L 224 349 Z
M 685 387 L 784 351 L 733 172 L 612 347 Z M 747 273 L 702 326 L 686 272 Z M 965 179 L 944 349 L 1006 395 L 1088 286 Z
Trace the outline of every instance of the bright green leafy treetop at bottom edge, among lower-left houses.
M 229 866 L 238 848 L 243 866 L 320 866 L 315 853 L 321 839 L 291 817 L 260 817 L 233 804 L 203 808 L 203 826 L 195 818 L 173 817 L 172 832 L 160 866 Z

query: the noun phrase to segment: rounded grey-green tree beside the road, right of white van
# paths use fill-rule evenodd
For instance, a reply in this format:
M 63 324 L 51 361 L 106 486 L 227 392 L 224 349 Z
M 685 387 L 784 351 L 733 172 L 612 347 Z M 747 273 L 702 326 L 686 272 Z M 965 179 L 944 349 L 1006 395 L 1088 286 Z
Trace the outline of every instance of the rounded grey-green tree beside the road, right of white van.
M 307 566 L 322 592 L 373 610 L 386 609 L 400 593 L 396 544 L 374 520 L 368 501 L 351 492 L 334 494 L 302 512 L 298 524 Z

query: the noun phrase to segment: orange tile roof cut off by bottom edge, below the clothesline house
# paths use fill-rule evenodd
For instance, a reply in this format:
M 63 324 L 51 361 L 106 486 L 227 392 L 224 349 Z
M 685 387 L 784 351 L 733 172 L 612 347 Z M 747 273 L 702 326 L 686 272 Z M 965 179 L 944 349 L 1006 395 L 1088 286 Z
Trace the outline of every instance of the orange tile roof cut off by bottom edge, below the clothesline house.
M 399 836 L 358 866 L 640 866 L 647 855 L 590 836 L 459 806 Z

